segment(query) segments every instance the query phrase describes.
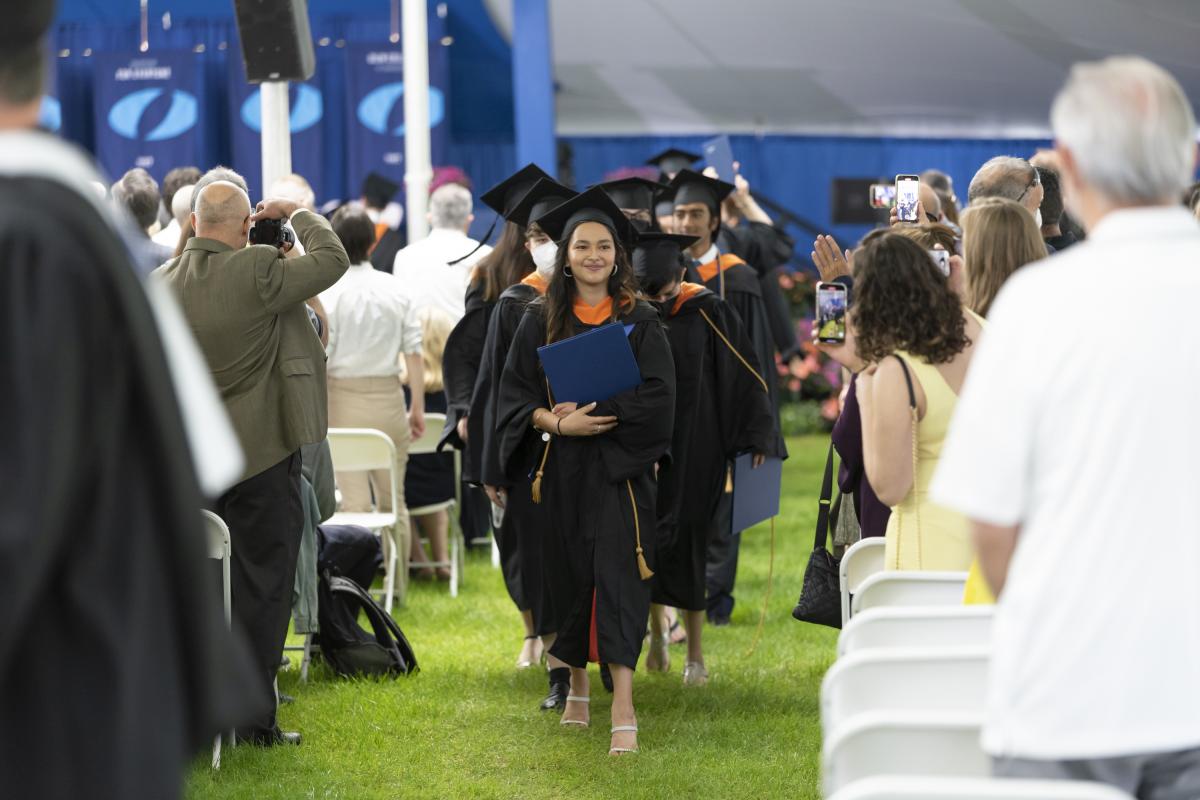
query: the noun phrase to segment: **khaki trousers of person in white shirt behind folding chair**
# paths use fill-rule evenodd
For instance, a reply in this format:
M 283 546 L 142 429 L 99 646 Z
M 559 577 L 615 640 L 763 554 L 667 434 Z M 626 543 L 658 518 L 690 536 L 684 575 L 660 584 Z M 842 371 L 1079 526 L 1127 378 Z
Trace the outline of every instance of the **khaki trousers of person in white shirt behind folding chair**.
M 398 377 L 389 378 L 329 378 L 329 427 L 373 428 L 382 431 L 396 445 L 396 500 L 400 504 L 396 527 L 380 531 L 384 564 L 390 563 L 392 547 L 397 548 L 398 567 L 395 576 L 396 597 L 401 604 L 408 589 L 408 552 L 412 546 L 410 523 L 404 501 L 404 471 L 408 467 L 408 409 Z M 391 511 L 391 485 L 388 471 L 337 473 L 337 488 L 342 491 L 342 511 Z M 376 505 L 372 507 L 372 493 Z

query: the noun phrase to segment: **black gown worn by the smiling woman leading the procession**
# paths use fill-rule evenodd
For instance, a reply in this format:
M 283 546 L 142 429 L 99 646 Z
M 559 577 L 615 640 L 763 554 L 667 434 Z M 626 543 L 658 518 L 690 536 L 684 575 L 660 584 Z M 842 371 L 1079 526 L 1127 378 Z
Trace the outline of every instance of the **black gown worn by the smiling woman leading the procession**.
M 542 308 L 533 303 L 527 309 L 500 381 L 500 463 L 514 479 L 535 471 L 547 452 L 532 425 L 533 411 L 551 405 L 538 360 L 546 341 Z M 649 305 L 637 303 L 622 321 L 634 325 L 629 343 L 642 384 L 593 411 L 619 420 L 611 432 L 551 438 L 542 468 L 542 504 L 553 534 L 562 537 L 572 584 L 572 601 L 551 652 L 572 667 L 584 667 L 590 658 L 636 668 L 650 608 L 637 541 L 653 570 L 654 464 L 671 445 L 674 362 Z M 595 326 L 576 318 L 574 327 L 577 335 Z

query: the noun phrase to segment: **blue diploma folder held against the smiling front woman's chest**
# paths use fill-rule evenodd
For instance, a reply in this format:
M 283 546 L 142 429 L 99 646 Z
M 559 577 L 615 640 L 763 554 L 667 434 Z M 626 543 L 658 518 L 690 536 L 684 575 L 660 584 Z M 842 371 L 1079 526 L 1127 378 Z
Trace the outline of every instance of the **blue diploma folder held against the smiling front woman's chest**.
M 613 323 L 538 348 L 556 403 L 598 403 L 642 384 L 629 347 L 632 325 Z

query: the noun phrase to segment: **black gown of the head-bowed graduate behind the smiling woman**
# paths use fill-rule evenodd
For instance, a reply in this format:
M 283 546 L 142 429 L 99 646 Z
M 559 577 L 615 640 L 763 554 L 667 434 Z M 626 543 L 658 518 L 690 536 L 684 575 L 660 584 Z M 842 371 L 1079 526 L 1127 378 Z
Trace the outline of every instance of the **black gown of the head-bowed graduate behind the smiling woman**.
M 667 317 L 666 329 L 676 414 L 671 462 L 659 471 L 653 597 L 704 610 L 706 551 L 727 462 L 746 451 L 770 452 L 775 417 L 745 327 L 727 302 L 700 289 Z

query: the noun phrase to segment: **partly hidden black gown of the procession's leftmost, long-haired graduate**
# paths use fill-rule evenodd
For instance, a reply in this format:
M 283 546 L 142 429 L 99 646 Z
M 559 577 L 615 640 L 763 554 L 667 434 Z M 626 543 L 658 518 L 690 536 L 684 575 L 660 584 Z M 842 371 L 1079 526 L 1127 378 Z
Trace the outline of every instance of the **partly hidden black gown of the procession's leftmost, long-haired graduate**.
M 482 483 L 484 420 L 469 416 L 472 396 L 484 360 L 484 341 L 494 302 L 484 300 L 484 288 L 467 287 L 466 312 L 446 337 L 442 354 L 442 383 L 446 396 L 446 423 L 438 450 L 446 445 L 462 451 L 462 480 Z M 458 437 L 458 421 L 467 417 L 467 441 Z

